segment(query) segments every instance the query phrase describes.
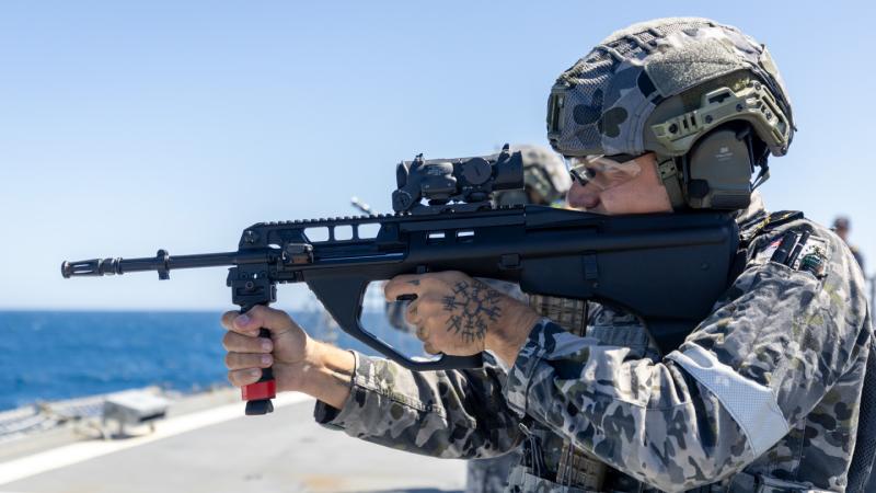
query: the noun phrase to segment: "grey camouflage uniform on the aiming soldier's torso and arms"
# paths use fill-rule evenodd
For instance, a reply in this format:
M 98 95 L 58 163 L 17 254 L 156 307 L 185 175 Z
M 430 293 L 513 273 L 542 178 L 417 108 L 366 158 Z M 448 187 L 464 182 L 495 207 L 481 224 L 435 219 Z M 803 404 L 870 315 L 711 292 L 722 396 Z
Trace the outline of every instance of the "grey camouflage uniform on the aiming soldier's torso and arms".
M 356 354 L 344 409 L 318 403 L 315 416 L 435 457 L 493 457 L 526 442 L 512 478 L 523 491 L 576 491 L 555 482 L 564 438 L 665 491 L 717 480 L 844 491 L 873 337 L 864 279 L 829 230 L 751 213 L 744 271 L 662 358 L 635 318 L 598 307 L 586 336 L 542 319 L 507 376 L 495 362 L 414 372 Z M 806 231 L 794 265 L 771 261 L 776 240 Z M 807 256 L 818 265 L 803 265 Z

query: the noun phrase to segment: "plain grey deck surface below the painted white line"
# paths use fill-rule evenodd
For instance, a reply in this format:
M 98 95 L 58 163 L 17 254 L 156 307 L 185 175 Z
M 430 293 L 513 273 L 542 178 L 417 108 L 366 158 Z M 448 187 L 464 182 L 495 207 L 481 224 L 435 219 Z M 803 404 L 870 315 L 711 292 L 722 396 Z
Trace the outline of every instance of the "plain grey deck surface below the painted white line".
M 234 419 L 0 485 L 0 492 L 458 491 L 465 463 L 316 425 L 312 402 Z

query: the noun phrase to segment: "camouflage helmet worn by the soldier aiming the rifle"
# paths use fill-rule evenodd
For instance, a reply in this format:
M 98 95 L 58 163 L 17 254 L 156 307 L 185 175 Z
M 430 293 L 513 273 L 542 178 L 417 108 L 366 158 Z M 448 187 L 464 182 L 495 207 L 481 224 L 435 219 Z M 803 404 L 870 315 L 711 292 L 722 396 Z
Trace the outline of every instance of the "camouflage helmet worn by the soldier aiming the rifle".
M 669 162 L 734 122 L 753 129 L 758 164 L 787 152 L 791 102 L 770 53 L 736 27 L 699 18 L 615 32 L 560 76 L 548 103 L 548 138 L 566 157 L 654 152 Z M 672 196 L 669 168 L 660 173 Z

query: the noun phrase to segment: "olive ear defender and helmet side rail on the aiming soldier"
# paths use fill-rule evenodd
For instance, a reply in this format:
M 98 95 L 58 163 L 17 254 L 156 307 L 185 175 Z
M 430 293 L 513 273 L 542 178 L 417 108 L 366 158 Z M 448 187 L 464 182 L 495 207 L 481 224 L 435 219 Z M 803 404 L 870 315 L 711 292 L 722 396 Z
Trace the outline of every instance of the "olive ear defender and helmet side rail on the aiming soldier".
M 748 207 L 751 192 L 770 176 L 770 152 L 787 150 L 791 125 L 765 88 L 750 79 L 728 85 L 655 110 L 660 123 L 652 123 L 646 139 L 676 209 Z

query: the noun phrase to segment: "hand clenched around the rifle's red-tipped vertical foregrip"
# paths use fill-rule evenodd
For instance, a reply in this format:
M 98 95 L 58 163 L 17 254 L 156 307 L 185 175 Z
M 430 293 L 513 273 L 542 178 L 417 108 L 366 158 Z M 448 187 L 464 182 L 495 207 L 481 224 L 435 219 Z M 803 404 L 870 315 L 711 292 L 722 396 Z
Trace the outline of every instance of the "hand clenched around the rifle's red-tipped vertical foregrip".
M 245 314 L 222 314 L 228 332 L 222 340 L 228 380 L 235 387 L 255 383 L 262 368 L 274 367 L 277 391 L 300 390 L 314 342 L 285 312 L 256 306 Z M 258 337 L 260 329 L 270 331 L 270 340 Z

